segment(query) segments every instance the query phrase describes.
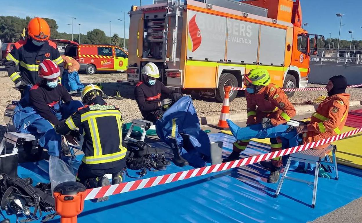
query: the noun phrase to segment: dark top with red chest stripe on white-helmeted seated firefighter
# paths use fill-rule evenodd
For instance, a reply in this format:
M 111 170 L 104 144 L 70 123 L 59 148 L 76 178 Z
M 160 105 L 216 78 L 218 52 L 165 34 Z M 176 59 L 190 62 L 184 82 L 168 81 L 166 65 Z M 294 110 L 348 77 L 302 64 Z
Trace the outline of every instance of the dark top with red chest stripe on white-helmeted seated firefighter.
M 159 104 L 161 101 L 161 93 L 167 95 L 167 97 L 171 97 L 171 94 L 177 93 L 177 91 L 165 87 L 159 80 L 156 80 L 155 85 L 152 86 L 142 81 L 136 84 L 136 102 L 145 119 L 161 109 Z

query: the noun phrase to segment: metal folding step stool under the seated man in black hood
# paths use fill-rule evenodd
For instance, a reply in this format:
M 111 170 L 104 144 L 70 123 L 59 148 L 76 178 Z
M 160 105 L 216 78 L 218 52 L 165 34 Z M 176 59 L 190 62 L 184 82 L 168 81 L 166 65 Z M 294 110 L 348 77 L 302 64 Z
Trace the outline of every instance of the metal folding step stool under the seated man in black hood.
M 331 157 L 329 157 L 329 153 L 332 150 L 333 161 Z M 279 181 L 277 190 L 275 191 L 274 196 L 277 197 L 279 195 L 280 190 L 282 189 L 284 179 L 299 181 L 302 183 L 313 185 L 313 198 L 312 198 L 312 208 L 315 207 L 316 198 L 317 198 L 317 186 L 318 186 L 318 175 L 319 175 L 319 167 L 321 164 L 328 166 L 328 169 L 331 170 L 330 166 L 334 167 L 334 176 L 335 179 L 338 180 L 338 169 L 337 169 L 337 159 L 336 159 L 336 145 L 329 145 L 324 149 L 308 149 L 299 153 L 294 153 L 289 156 L 288 162 L 285 166 L 282 179 Z M 315 164 L 315 173 L 314 173 L 314 181 L 307 181 L 302 179 L 297 179 L 294 177 L 286 176 L 290 167 L 290 163 L 292 160 L 299 161 L 305 163 L 304 171 L 307 171 L 308 163 Z

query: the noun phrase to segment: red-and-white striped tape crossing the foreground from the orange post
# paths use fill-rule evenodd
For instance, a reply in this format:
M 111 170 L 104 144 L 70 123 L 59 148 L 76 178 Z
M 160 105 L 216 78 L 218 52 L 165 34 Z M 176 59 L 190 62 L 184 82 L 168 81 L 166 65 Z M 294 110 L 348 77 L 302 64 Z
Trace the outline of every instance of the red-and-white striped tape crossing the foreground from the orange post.
M 146 178 L 142 180 L 135 180 L 121 184 L 109 185 L 99 188 L 93 188 L 86 190 L 87 196 L 85 200 L 90 200 L 94 198 L 100 198 L 104 196 L 111 196 L 114 194 L 126 193 L 132 190 L 139 190 L 143 188 L 149 188 L 152 186 L 162 185 L 172 183 L 174 181 L 186 180 L 196 176 L 203 176 L 209 173 L 220 172 L 224 170 L 229 170 L 231 168 L 246 166 L 253 163 L 258 163 L 263 160 L 273 159 L 275 157 L 289 155 L 292 153 L 297 153 L 303 150 L 311 149 L 313 147 L 321 146 L 330 142 L 334 142 L 337 140 L 341 140 L 342 138 L 353 136 L 362 132 L 362 128 L 355 129 L 346 133 L 339 134 L 337 136 L 329 137 L 323 140 L 319 140 L 316 142 L 306 143 L 300 146 L 291 147 L 288 149 L 283 149 L 279 151 L 274 151 L 271 153 L 260 154 L 256 156 L 250 156 L 247 158 L 227 162 L 215 164 L 207 167 L 201 167 L 192 170 L 180 171 L 176 173 L 169 173 L 162 176 L 155 176 L 151 178 Z

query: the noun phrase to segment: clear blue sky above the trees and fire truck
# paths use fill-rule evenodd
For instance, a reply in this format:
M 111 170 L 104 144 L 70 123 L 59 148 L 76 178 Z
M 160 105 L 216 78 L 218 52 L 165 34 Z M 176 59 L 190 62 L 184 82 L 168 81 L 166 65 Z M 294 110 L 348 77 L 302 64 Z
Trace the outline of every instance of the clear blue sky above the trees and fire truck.
M 309 33 L 322 34 L 325 38 L 338 38 L 340 18 L 336 13 L 345 14 L 342 18 L 341 39 L 350 39 L 348 30 L 353 30 L 353 38 L 362 39 L 361 0 L 300 0 L 302 4 L 303 22 L 308 23 L 305 28 Z M 31 3 L 30 3 L 31 2 Z M 87 3 L 85 3 L 87 2 Z M 152 0 L 143 0 L 142 5 L 152 4 Z M 71 33 L 71 17 L 77 17 L 73 21 L 73 33 L 80 33 L 98 28 L 104 30 L 106 35 L 110 33 L 112 21 L 112 34 L 118 33 L 123 37 L 123 12 L 128 12 L 131 5 L 139 5 L 139 0 L 62 0 L 58 4 L 49 0 L 16 0 L 7 1 L 2 5 L 1 15 L 49 17 L 57 21 L 60 32 Z M 129 17 L 126 14 L 126 38 L 128 38 Z

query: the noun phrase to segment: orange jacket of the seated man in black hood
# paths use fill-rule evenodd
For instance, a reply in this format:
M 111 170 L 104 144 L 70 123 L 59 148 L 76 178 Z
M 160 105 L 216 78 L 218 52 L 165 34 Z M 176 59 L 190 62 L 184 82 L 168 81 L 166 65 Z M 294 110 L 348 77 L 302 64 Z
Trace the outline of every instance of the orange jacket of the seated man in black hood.
M 349 110 L 349 94 L 334 94 L 324 99 L 311 116 L 308 132 L 303 134 L 304 142 L 314 142 L 341 133 Z

